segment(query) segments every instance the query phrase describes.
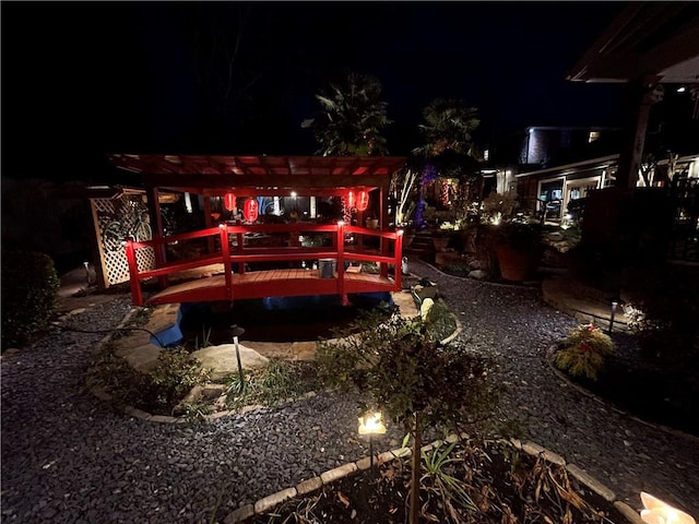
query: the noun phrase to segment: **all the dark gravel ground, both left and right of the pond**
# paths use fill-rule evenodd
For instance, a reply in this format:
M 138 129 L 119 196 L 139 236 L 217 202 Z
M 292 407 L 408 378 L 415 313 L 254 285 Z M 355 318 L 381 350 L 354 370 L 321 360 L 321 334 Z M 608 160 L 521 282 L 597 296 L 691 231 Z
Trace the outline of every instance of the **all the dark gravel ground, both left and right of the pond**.
M 463 340 L 500 357 L 506 417 L 638 508 L 640 490 L 699 515 L 699 443 L 619 415 L 567 386 L 545 354 L 576 322 L 537 289 L 494 286 L 411 262 L 439 284 Z M 67 323 L 116 326 L 127 297 Z M 366 456 L 357 398 L 321 393 L 280 409 L 189 426 L 127 418 L 84 388 L 102 334 L 52 327 L 2 357 L 2 520 L 22 523 L 209 523 Z M 399 442 L 399 428 L 377 448 Z

